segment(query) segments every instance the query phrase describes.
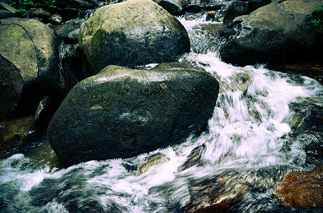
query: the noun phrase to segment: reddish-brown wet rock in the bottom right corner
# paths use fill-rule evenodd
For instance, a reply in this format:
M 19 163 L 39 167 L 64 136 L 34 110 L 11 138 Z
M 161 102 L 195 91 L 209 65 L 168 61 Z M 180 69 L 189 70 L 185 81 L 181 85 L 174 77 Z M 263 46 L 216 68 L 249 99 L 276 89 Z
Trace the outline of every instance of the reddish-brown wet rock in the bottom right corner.
M 294 208 L 323 207 L 323 165 L 287 175 L 277 195 Z

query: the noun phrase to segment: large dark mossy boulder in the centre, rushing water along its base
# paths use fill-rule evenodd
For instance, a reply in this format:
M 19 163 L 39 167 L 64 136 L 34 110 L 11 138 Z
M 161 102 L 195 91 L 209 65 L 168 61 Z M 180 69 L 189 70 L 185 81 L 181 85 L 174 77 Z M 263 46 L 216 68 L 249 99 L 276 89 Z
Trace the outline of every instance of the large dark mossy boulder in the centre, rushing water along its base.
M 147 153 L 205 131 L 218 89 L 215 77 L 185 63 L 110 65 L 71 89 L 48 139 L 63 166 Z

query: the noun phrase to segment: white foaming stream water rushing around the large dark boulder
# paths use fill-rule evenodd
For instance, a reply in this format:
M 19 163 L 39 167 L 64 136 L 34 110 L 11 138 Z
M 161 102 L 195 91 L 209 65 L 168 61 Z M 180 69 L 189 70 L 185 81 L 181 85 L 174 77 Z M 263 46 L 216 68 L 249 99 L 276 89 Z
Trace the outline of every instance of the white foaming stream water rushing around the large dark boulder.
M 185 212 L 210 204 L 210 197 L 214 203 L 233 200 L 229 212 L 277 209 L 275 191 L 283 176 L 314 168 L 306 162 L 308 140 L 292 129 L 303 118 L 290 104 L 322 107 L 323 87 L 264 65 L 222 62 L 221 40 L 205 30 L 219 23 L 205 17 L 178 18 L 192 43 L 180 61 L 202 67 L 220 82 L 205 133 L 135 158 L 92 160 L 66 169 L 50 170 L 26 155 L 12 155 L 0 160 L 0 211 Z M 140 175 L 140 165 L 154 155 L 166 160 Z

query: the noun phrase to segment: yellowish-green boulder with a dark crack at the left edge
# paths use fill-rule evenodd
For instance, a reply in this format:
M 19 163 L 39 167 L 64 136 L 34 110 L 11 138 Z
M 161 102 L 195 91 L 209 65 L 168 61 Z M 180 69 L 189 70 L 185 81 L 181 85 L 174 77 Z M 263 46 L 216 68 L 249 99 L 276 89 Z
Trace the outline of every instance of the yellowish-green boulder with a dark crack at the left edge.
M 58 67 L 58 39 L 51 28 L 34 19 L 1 19 L 0 54 L 11 62 L 2 69 L 13 78 L 19 72 L 22 79 L 17 113 L 36 110 L 46 95 L 57 101 L 63 99 L 66 92 Z

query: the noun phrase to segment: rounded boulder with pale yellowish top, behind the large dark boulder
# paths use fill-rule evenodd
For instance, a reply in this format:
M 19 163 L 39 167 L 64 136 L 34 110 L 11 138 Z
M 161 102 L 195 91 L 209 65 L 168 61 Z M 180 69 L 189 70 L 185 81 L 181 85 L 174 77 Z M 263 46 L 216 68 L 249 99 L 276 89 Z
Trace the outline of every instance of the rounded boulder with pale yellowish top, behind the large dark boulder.
M 190 50 L 183 25 L 150 0 L 101 7 L 82 26 L 78 40 L 88 75 L 107 65 L 173 62 Z

